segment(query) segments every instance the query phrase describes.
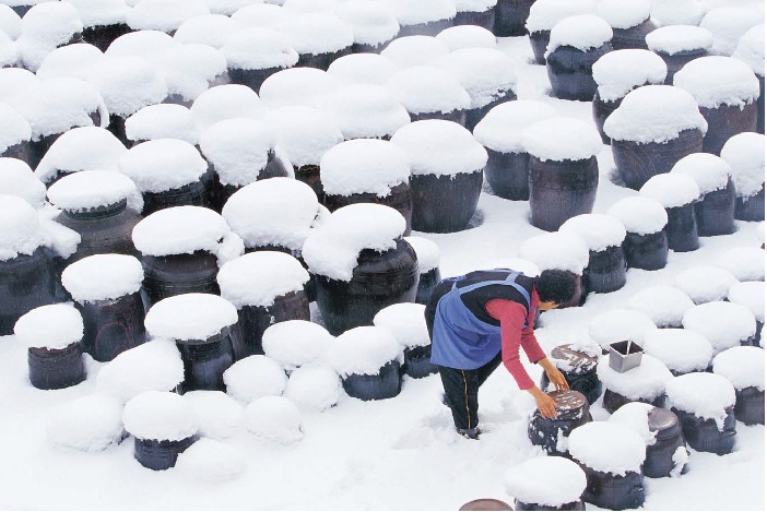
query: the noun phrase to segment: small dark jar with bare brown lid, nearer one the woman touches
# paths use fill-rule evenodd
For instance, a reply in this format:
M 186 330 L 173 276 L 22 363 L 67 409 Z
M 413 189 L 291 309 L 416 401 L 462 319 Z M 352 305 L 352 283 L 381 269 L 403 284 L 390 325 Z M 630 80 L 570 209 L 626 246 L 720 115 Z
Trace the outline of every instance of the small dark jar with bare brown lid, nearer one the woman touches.
M 536 409 L 528 422 L 528 438 L 550 455 L 564 456 L 570 432 L 591 421 L 589 402 L 582 393 L 575 390 L 551 391 L 546 394 L 554 401 L 556 418 L 544 418 Z

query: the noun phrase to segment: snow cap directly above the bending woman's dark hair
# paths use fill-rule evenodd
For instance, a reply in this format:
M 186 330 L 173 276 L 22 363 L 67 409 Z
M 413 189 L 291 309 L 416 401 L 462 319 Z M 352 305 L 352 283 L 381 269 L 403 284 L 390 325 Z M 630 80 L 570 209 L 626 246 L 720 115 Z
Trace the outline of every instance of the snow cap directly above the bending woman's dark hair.
M 580 237 L 564 231 L 544 233 L 519 246 L 519 258 L 533 262 L 542 271 L 560 270 L 580 275 L 589 264 L 589 248 Z

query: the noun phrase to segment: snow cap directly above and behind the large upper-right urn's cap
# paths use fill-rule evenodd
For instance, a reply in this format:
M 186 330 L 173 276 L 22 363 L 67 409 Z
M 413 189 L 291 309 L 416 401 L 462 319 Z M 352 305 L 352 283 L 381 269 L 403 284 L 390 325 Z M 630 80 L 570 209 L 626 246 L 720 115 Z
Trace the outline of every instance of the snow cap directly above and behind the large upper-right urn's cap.
M 609 51 L 591 68 L 599 97 L 604 102 L 621 99 L 630 91 L 647 84 L 662 84 L 668 72 L 665 62 L 650 50 Z

